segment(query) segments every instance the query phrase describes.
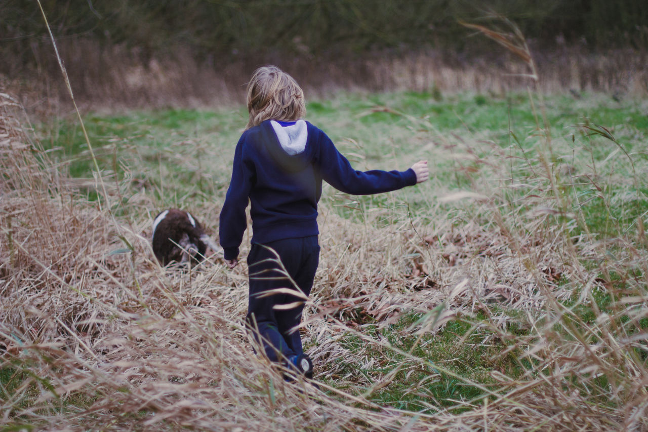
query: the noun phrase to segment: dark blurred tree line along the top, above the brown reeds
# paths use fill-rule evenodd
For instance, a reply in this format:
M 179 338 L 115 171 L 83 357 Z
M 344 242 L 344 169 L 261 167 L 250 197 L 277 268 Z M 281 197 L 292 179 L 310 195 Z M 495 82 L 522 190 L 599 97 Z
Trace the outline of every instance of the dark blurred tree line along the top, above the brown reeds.
M 356 55 L 372 49 L 478 46 L 460 20 L 491 12 L 534 43 L 589 49 L 648 46 L 648 2 L 640 0 L 41 0 L 54 36 L 122 44 L 143 56 L 189 48 L 197 59 L 260 52 Z M 36 0 L 0 3 L 3 54 L 30 62 L 45 40 Z M 478 47 L 478 49 L 480 49 Z

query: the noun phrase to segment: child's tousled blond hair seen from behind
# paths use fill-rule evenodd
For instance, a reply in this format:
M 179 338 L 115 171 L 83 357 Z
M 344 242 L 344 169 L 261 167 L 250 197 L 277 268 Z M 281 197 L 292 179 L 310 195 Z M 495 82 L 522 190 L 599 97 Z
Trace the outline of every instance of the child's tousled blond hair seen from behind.
M 259 67 L 248 82 L 248 112 L 246 129 L 264 120 L 295 121 L 306 115 L 304 92 L 279 67 Z

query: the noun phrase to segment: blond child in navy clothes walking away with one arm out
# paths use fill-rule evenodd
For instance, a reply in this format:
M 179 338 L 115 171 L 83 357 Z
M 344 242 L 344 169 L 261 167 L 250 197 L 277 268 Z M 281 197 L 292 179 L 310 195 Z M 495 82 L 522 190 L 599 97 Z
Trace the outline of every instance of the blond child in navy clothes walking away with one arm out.
M 306 114 L 303 92 L 278 67 L 260 67 L 253 73 L 248 112 L 220 212 L 220 245 L 227 266 L 233 269 L 247 226 L 249 199 L 253 235 L 246 322 L 260 336 L 271 361 L 312 378 L 312 362 L 295 330 L 303 302 L 275 309 L 300 299 L 290 294 L 259 296 L 271 289 L 294 288 L 277 272 L 276 261 L 270 260 L 278 255 L 295 285 L 308 296 L 319 261 L 317 209 L 322 180 L 345 193 L 369 195 L 424 182 L 428 165 L 420 161 L 407 171 L 355 171 L 324 132 L 302 119 Z

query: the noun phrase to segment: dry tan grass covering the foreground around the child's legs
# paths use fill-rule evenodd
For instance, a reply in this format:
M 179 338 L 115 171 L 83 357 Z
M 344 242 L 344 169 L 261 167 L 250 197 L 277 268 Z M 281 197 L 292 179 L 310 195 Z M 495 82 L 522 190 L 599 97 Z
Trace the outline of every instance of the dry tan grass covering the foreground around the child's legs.
M 594 326 L 570 326 L 565 318 L 578 318 L 557 302 L 570 296 L 557 279 L 562 273 L 571 286 L 581 286 L 586 302 L 600 282 L 581 259 L 597 256 L 601 245 L 564 237 L 546 214 L 529 215 L 516 230 L 520 220 L 513 223 L 514 212 L 498 210 L 492 190 L 480 191 L 491 197 L 461 228 L 443 213 L 435 215 L 434 225 L 403 214 L 388 228 L 374 228 L 372 221 L 393 209 L 373 211 L 360 224 L 324 208 L 321 264 L 305 325 L 323 392 L 301 381 L 285 383 L 252 354 L 242 324 L 246 269 L 227 272 L 218 254 L 193 272 L 161 269 L 150 251 L 146 213 L 115 218 L 106 206 L 100 210 L 76 195 L 38 145 L 30 144 L 19 112 L 10 108 L 1 108 L 0 369 L 11 370 L 19 385 L 0 398 L 5 426 L 386 431 L 647 426 L 648 374 L 633 354 L 643 335 L 624 335 L 615 327 L 624 314 L 646 317 L 645 298 L 625 298 L 616 318 L 601 315 Z M 480 214 L 500 216 L 480 222 Z M 627 268 L 645 267 L 642 256 L 629 247 L 609 270 L 628 274 Z M 641 293 L 644 283 L 629 280 L 627 289 Z M 439 314 L 430 314 L 440 304 L 445 307 L 436 309 Z M 419 311 L 424 318 L 408 333 L 429 335 L 457 314 L 481 311 L 489 314 L 489 330 L 507 338 L 513 319 L 507 310 L 527 317 L 532 331 L 514 345 L 535 366 L 517 379 L 493 372 L 498 385 L 483 389 L 492 394 L 489 402 L 457 402 L 469 408 L 461 414 L 441 409 L 432 416 L 371 402 L 373 392 L 393 383 L 397 370 L 371 379 L 345 375 L 344 363 L 371 367 L 380 362 L 371 354 L 375 350 L 399 352 L 365 332 L 367 324 L 387 329 L 403 313 Z M 559 336 L 565 331 L 568 339 Z M 365 348 L 341 344 L 349 334 Z M 405 370 L 427 362 L 401 354 Z M 607 385 L 597 384 L 601 375 Z M 363 395 L 324 384 L 349 380 L 369 390 Z M 434 400 L 428 403 L 435 406 Z

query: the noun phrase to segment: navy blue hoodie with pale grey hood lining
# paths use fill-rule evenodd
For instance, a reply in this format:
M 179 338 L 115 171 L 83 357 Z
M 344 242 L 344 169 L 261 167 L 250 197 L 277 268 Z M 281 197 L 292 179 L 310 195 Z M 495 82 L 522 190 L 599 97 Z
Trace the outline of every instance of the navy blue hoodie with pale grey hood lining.
M 355 171 L 330 138 L 307 121 L 266 120 L 243 132 L 220 211 L 225 259 L 238 258 L 251 202 L 252 243 L 318 235 L 322 180 L 352 195 L 395 191 L 416 184 L 407 171 Z

